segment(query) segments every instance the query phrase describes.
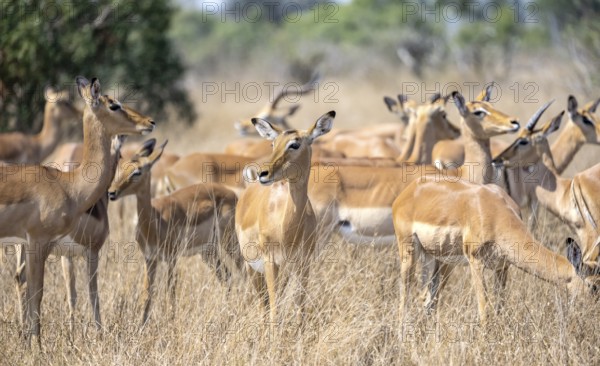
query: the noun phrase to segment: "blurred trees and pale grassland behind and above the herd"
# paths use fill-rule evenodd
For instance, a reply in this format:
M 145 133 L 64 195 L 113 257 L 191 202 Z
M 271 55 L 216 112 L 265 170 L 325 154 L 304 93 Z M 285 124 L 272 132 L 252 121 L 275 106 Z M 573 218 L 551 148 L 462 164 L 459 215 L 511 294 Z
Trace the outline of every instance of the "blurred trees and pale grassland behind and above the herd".
M 253 116 L 272 98 L 269 90 L 316 71 L 320 94 L 302 101 L 299 125 L 330 109 L 347 127 L 393 121 L 383 95 L 424 101 L 455 87 L 477 93 L 491 81 L 501 103 L 523 105 L 521 119 L 549 98 L 565 108 L 568 94 L 582 103 L 599 94 L 598 0 L 1 6 L 0 132 L 38 131 L 46 86 L 77 100 L 76 75 L 98 77 L 104 93 L 168 123 L 166 135 L 196 128 L 193 147 L 205 150 L 235 134 L 233 121 Z M 255 84 L 259 95 L 248 95 Z

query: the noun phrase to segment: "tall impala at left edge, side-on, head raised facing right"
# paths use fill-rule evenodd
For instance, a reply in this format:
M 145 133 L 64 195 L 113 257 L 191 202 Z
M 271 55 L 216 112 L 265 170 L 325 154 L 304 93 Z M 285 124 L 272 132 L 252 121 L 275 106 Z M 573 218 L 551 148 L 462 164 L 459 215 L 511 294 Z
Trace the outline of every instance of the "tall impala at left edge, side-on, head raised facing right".
M 4 166 L 0 170 L 0 237 L 26 237 L 27 320 L 41 346 L 40 306 L 44 266 L 52 242 L 68 234 L 110 184 L 111 138 L 144 134 L 154 121 L 100 94 L 100 83 L 77 77 L 83 111 L 84 152 L 80 167 L 62 172 L 46 166 Z M 32 176 L 29 172 L 35 171 Z M 97 174 L 97 175 L 93 175 Z M 93 178 L 93 179 L 92 179 Z

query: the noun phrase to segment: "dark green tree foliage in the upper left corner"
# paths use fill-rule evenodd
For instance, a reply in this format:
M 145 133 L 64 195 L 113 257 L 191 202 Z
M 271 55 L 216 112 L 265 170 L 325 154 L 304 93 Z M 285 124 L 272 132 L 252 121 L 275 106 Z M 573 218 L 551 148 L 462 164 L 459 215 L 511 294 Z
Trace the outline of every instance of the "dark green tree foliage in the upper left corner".
M 39 119 L 48 85 L 64 89 L 76 75 L 98 77 L 105 94 L 159 120 L 173 107 L 194 111 L 178 84 L 184 68 L 167 31 L 168 0 L 13 1 L 1 4 L 0 130 Z

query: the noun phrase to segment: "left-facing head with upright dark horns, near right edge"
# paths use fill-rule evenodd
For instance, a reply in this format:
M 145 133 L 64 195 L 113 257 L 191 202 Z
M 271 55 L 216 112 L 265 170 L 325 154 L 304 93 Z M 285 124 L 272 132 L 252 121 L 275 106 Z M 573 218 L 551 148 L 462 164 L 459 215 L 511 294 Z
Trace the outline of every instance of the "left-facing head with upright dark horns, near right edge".
M 565 111 L 548 121 L 543 127 L 536 129 L 536 125 L 542 114 L 552 102 L 542 106 L 527 122 L 525 128 L 519 132 L 519 136 L 503 152 L 494 158 L 495 165 L 504 165 L 509 168 L 523 167 L 537 163 L 543 153 L 550 151 L 548 136 L 560 128 L 560 123 Z

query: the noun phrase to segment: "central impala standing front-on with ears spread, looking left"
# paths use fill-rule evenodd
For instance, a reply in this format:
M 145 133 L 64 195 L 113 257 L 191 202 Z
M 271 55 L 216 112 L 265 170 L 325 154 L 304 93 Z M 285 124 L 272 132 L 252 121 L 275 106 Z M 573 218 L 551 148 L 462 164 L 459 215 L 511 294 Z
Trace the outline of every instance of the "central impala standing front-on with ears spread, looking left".
M 283 131 L 269 122 L 254 119 L 258 133 L 273 141 L 270 163 L 260 170 L 258 181 L 240 198 L 235 227 L 246 269 L 261 303 L 277 319 L 277 296 L 287 273 L 298 276 L 298 316 L 304 313 L 309 262 L 316 245 L 317 220 L 308 199 L 308 181 L 313 141 L 331 130 L 335 112 L 321 116 L 307 131 Z

